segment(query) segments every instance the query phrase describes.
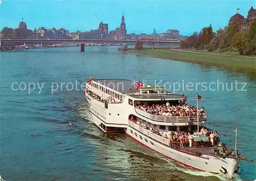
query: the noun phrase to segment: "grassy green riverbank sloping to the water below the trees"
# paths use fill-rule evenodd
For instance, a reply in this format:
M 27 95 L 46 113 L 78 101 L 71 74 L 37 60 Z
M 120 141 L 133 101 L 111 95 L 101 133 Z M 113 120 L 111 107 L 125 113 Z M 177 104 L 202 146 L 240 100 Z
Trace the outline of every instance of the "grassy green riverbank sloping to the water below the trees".
M 182 49 L 127 50 L 124 53 L 256 72 L 256 57 L 235 55 L 234 53 L 207 53 Z

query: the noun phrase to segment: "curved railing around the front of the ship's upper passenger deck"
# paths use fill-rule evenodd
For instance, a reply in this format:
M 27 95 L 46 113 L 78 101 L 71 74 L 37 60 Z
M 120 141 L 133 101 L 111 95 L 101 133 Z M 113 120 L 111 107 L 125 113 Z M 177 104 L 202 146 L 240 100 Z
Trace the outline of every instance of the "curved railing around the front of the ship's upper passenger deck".
M 158 122 L 196 122 L 197 116 L 159 116 L 150 114 L 144 110 L 135 108 L 138 115 L 141 115 L 147 119 L 158 121 Z M 206 121 L 207 115 L 200 115 L 199 121 Z

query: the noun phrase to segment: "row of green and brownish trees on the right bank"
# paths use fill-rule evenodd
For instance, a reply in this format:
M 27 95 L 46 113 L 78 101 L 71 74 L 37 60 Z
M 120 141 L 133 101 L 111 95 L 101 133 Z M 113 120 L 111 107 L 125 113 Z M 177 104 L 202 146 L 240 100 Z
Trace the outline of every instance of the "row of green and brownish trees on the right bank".
M 238 51 L 240 55 L 256 55 L 256 22 L 252 22 L 248 30 L 241 31 L 238 24 L 229 25 L 212 31 L 211 25 L 195 32 L 185 41 L 181 48 L 208 49 L 208 51 Z

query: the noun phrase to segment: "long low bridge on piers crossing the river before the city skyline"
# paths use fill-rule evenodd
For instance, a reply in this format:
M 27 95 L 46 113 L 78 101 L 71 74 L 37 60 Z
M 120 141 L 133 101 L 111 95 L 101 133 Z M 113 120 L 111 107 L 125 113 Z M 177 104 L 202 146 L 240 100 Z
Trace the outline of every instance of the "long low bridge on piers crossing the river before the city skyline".
M 11 44 L 22 44 L 22 43 L 76 43 L 80 44 L 80 51 L 84 52 L 84 44 L 86 43 L 135 43 L 136 40 L 112 40 L 112 39 L 1 39 L 1 43 L 6 45 Z M 145 43 L 152 43 L 152 49 L 154 48 L 154 43 L 179 43 L 179 40 L 169 40 L 169 41 L 158 41 L 142 40 Z

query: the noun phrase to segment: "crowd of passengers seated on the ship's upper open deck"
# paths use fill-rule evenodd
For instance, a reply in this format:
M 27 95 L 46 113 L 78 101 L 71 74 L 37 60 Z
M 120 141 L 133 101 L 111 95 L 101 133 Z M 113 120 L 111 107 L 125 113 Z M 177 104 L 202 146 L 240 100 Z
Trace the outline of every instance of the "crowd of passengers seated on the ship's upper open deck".
M 136 108 L 144 110 L 150 114 L 159 115 L 159 116 L 197 116 L 197 108 L 192 105 L 188 105 L 186 103 L 180 102 L 177 105 L 170 105 L 169 102 L 166 104 L 137 104 Z M 198 113 L 200 116 L 205 116 L 206 112 L 204 111 L 204 107 L 202 106 L 198 109 Z

